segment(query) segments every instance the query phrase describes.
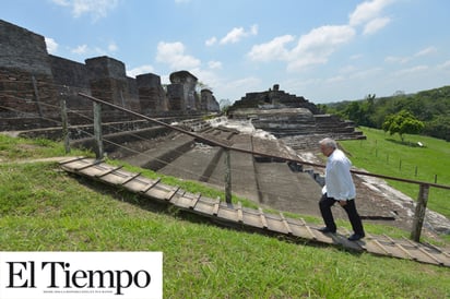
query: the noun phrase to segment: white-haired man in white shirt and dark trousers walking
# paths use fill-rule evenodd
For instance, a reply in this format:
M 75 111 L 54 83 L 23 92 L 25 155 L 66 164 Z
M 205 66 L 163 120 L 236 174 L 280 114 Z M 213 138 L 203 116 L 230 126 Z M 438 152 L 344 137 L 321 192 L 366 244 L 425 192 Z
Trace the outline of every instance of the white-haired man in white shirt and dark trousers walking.
M 336 142 L 332 139 L 323 139 L 319 142 L 320 151 L 328 157 L 325 168 L 325 186 L 322 189 L 322 198 L 319 202 L 325 227 L 320 228 L 322 232 L 336 232 L 331 206 L 335 202 L 345 210 L 352 224 L 354 234 L 348 237 L 351 241 L 357 241 L 365 237 L 363 223 L 355 205 L 355 184 L 350 171 L 352 163 L 345 154 L 338 148 Z

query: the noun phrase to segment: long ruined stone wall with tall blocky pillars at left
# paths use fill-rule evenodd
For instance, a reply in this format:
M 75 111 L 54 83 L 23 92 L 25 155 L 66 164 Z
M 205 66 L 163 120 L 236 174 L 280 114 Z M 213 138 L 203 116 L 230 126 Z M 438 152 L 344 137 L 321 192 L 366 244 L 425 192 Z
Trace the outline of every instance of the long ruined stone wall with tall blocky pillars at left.
M 47 52 L 45 38 L 0 20 L 0 131 L 58 127 L 64 99 L 71 125 L 92 122 L 87 94 L 150 117 L 201 116 L 218 111 L 211 91 L 197 93 L 198 80 L 188 71 L 170 74 L 166 89 L 159 75 L 127 76 L 123 62 L 94 57 L 85 63 Z M 132 120 L 104 108 L 105 122 Z

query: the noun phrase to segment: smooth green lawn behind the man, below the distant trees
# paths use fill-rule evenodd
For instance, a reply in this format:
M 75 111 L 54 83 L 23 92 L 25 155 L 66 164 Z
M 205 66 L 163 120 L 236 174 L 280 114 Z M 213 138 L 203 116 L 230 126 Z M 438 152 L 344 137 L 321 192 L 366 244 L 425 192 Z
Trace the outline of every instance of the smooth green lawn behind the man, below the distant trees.
M 382 130 L 360 128 L 367 140 L 342 141 L 354 166 L 372 174 L 450 186 L 450 144 L 446 141 L 405 135 L 405 143 L 398 135 L 391 136 Z M 417 142 L 424 144 L 417 146 Z M 416 200 L 418 184 L 388 180 L 388 183 Z M 450 218 L 450 190 L 430 188 L 428 205 Z

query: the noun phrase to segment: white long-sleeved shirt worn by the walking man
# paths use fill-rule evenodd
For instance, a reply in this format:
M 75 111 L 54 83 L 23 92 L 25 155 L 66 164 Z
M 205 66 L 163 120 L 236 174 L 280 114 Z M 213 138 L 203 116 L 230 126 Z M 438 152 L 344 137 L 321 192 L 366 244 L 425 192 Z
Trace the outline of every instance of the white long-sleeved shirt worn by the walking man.
M 338 201 L 355 199 L 356 191 L 350 169 L 352 163 L 345 154 L 336 148 L 327 159 L 325 186 L 322 193 Z

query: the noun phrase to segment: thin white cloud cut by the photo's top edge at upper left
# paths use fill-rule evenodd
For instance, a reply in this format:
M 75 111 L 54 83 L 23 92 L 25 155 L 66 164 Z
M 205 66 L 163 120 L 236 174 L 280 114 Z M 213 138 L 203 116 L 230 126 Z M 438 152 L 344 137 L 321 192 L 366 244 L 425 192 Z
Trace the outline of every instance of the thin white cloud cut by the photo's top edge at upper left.
M 114 10 L 119 0 L 51 0 L 55 4 L 67 7 L 72 10 L 74 17 L 91 14 L 94 21 L 105 17 Z

